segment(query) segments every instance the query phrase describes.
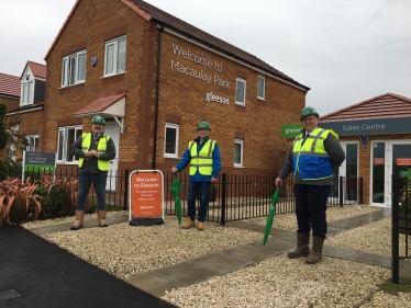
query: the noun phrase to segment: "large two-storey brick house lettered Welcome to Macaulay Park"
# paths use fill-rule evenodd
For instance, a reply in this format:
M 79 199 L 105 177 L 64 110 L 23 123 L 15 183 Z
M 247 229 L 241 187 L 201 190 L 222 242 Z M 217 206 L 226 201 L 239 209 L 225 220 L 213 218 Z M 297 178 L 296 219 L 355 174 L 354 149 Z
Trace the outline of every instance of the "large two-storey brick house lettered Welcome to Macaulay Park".
M 59 168 L 77 169 L 76 137 L 99 114 L 116 170 L 168 171 L 208 121 L 223 172 L 270 174 L 289 142 L 308 87 L 229 43 L 144 1 L 77 0 L 47 64 L 44 138 Z

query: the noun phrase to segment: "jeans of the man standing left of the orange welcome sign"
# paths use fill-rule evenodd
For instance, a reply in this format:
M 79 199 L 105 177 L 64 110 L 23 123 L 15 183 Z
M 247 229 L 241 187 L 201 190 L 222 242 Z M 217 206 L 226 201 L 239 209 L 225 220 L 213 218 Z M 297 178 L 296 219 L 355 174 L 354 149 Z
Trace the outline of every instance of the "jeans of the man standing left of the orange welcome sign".
M 97 195 L 97 209 L 105 210 L 105 183 L 107 173 L 78 173 L 77 210 L 86 209 L 86 201 L 89 195 L 91 183 Z

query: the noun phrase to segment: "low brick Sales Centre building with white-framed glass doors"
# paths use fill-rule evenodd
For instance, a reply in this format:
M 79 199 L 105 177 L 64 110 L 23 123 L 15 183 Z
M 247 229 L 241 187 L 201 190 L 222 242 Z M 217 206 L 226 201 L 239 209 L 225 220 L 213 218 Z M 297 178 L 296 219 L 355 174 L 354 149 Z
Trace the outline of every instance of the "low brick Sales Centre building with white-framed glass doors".
M 326 114 L 320 126 L 340 136 L 346 160 L 343 198 L 357 203 L 363 179 L 363 203 L 391 206 L 391 174 L 411 175 L 411 99 L 386 93 Z M 337 187 L 335 187 L 337 190 Z M 337 192 L 336 192 L 337 193 Z M 335 194 L 335 196 L 337 196 Z

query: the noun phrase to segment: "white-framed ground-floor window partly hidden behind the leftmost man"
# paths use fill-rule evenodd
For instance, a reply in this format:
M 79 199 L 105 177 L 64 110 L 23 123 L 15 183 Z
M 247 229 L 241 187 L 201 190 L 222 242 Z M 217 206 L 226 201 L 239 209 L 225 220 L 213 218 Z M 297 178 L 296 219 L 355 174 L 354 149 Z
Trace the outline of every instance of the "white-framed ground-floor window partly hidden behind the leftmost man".
M 78 160 L 70 153 L 74 141 L 81 136 L 81 126 L 70 126 L 58 128 L 57 161 L 77 162 Z

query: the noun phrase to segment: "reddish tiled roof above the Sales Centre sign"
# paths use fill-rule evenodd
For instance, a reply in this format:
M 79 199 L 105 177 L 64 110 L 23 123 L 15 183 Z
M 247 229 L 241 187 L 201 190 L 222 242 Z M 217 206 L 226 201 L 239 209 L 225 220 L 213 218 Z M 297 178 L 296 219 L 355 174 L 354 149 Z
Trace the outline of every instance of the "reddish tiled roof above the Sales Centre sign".
M 411 116 L 411 99 L 395 93 L 386 93 L 329 113 L 321 116 L 320 119 L 321 122 L 337 122 L 409 116 Z

